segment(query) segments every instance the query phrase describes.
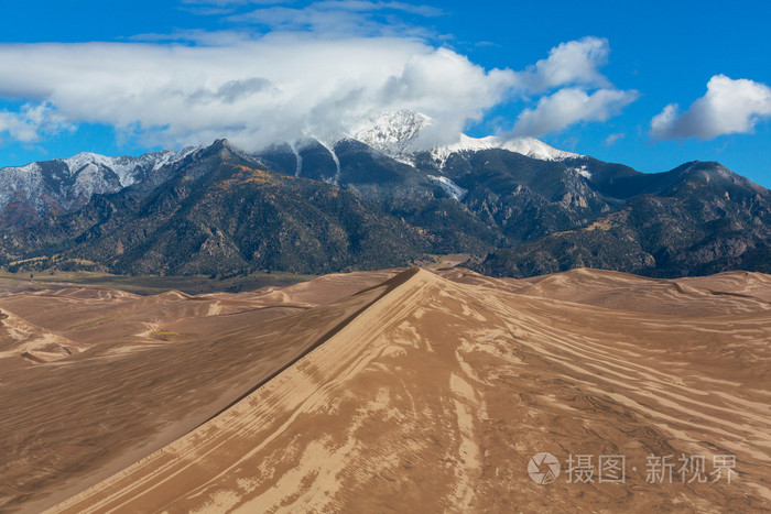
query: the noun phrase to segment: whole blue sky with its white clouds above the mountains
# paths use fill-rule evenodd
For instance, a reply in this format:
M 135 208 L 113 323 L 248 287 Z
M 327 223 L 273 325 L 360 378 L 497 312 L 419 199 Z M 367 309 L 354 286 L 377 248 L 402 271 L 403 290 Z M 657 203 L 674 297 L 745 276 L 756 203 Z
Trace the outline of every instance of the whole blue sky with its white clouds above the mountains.
M 332 135 L 406 107 L 437 141 L 534 135 L 643 172 L 719 161 L 771 187 L 767 2 L 0 7 L 0 166 Z

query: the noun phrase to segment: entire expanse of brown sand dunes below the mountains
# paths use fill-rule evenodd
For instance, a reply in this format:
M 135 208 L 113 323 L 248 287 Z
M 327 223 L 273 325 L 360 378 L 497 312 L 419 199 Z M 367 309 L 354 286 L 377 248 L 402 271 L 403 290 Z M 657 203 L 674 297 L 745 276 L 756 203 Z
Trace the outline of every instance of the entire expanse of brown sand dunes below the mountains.
M 110 324 L 128 333 L 144 319 L 156 340 L 123 335 L 0 372 L 0 507 L 759 512 L 771 502 L 769 284 L 415 269 L 110 298 L 130 313 Z M 122 311 L 109 302 L 100 314 Z M 149 319 L 142 302 L 165 314 Z M 549 485 L 526 471 L 539 452 L 563 464 Z M 623 455 L 625 482 L 568 483 L 571 455 Z M 651 483 L 651 456 L 703 456 L 708 471 L 734 456 L 735 474 Z

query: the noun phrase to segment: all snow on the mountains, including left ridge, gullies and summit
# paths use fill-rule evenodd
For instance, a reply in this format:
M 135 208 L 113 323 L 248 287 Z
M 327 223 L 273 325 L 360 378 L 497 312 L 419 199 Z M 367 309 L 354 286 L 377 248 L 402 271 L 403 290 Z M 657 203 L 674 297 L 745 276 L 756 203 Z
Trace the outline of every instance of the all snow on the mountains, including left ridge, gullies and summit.
M 419 153 L 426 151 L 422 136 L 435 121 L 412 110 L 380 113 L 361 122 L 345 138 L 358 140 L 376 151 L 405 164 L 415 165 Z M 340 140 L 343 141 L 343 140 Z M 335 162 L 335 175 L 327 181 L 339 184 L 340 162 L 335 152 L 335 141 L 317 141 L 325 146 Z M 300 142 L 290 143 L 296 158 L 295 175 L 300 175 L 303 161 Z M 452 144 L 434 146 L 428 154 L 442 169 L 447 158 L 458 152 L 503 149 L 533 158 L 562 161 L 580 155 L 556 150 L 533 138 L 469 138 L 460 134 Z M 0 169 L 0 226 L 25 227 L 51 214 L 72 212 L 83 207 L 96 194 L 116 193 L 131 186 L 164 166 L 174 165 L 198 150 L 187 147 L 181 152 L 164 150 L 138 157 L 108 157 L 94 153 L 79 153 L 69 158 L 56 158 L 25 166 Z M 585 177 L 590 175 L 585 169 Z M 438 174 L 437 174 L 438 175 Z M 445 176 L 431 176 L 450 197 L 460 199 L 466 192 Z

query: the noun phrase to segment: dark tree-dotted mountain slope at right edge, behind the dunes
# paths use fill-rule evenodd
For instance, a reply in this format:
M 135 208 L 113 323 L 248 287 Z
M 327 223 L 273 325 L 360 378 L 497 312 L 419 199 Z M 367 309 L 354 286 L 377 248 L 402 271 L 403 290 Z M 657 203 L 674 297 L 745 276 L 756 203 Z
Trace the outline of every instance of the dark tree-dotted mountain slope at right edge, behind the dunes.
M 579 229 L 491 252 L 473 267 L 530 276 L 601 267 L 650 276 L 771 272 L 771 195 L 718 163 L 600 186 L 627 201 Z

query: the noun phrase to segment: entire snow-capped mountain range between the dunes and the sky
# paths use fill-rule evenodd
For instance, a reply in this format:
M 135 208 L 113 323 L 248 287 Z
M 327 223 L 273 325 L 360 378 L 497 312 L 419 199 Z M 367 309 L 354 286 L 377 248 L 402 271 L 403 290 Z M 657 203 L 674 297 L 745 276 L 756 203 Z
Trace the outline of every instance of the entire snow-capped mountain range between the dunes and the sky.
M 226 140 L 0 169 L 11 270 L 327 273 L 468 254 L 476 271 L 771 271 L 771 193 L 718 163 L 644 174 L 534 139 L 425 147 L 400 111 L 335 141 Z

